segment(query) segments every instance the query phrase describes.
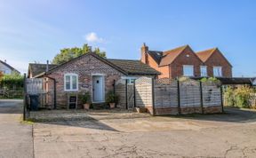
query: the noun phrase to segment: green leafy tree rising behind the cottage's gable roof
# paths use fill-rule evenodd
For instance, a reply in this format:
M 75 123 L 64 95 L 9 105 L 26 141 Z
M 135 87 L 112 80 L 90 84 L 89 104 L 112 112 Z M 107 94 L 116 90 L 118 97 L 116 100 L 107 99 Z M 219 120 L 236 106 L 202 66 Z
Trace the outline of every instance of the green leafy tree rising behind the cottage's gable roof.
M 52 64 L 62 64 L 64 62 L 67 62 L 70 59 L 74 59 L 78 56 L 81 56 L 85 53 L 90 52 L 91 48 L 88 46 L 87 43 L 84 43 L 82 48 L 79 47 L 73 47 L 73 48 L 64 48 L 60 50 L 60 53 L 57 54 L 54 59 L 52 60 Z M 95 48 L 94 52 L 100 57 L 106 58 L 106 52 L 100 51 L 100 48 Z

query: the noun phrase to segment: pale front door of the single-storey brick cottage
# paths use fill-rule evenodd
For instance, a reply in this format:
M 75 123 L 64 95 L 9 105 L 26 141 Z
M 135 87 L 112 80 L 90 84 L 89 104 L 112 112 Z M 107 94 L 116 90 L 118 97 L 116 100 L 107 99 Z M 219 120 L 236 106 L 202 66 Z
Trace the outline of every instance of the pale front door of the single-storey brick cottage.
M 103 87 L 103 76 L 93 75 L 92 76 L 92 101 L 104 102 L 104 87 Z

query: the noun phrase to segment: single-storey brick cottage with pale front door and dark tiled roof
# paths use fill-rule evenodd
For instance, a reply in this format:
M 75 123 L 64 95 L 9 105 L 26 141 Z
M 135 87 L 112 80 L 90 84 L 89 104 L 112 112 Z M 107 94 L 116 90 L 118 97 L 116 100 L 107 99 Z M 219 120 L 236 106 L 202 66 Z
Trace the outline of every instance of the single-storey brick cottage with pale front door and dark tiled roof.
M 68 105 L 70 95 L 89 91 L 92 103 L 104 103 L 106 93 L 113 91 L 117 80 L 124 78 L 132 83 L 140 76 L 156 78 L 159 74 L 140 60 L 105 59 L 94 52 L 86 53 L 61 65 L 28 66 L 29 78 L 44 78 L 44 91 L 50 93 L 47 95 L 47 104 L 64 108 Z

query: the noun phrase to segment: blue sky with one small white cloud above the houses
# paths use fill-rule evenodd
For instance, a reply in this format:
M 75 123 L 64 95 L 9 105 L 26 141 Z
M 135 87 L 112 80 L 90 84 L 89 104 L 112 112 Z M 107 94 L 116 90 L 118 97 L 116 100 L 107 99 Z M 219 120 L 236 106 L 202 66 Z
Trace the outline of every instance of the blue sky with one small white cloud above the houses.
M 256 76 L 254 0 L 1 0 L 0 59 L 21 73 L 68 47 L 89 43 L 111 59 L 140 59 L 140 47 L 218 47 L 234 76 Z

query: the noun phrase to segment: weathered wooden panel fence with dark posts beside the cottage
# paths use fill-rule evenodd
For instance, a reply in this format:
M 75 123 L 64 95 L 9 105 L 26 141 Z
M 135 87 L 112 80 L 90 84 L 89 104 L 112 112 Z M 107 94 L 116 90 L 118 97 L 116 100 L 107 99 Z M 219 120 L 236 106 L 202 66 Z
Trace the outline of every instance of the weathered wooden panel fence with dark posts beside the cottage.
M 116 94 L 120 97 L 118 107 L 139 107 L 152 115 L 206 114 L 223 110 L 220 85 L 212 82 L 140 77 L 133 89 L 125 80 L 118 81 Z

